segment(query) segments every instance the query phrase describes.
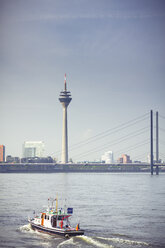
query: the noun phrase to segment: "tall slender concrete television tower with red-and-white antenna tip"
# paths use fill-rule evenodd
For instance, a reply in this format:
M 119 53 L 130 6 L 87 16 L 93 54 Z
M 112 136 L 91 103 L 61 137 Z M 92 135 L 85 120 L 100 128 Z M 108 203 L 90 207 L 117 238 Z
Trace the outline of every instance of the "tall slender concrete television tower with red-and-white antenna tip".
M 60 92 L 59 101 L 63 107 L 63 129 L 62 129 L 62 156 L 61 162 L 68 163 L 68 127 L 67 127 L 67 107 L 71 102 L 71 93 L 67 91 L 66 87 L 66 73 L 64 77 L 64 91 Z

